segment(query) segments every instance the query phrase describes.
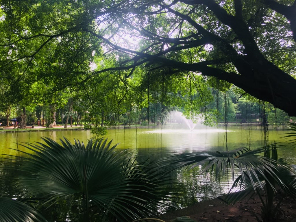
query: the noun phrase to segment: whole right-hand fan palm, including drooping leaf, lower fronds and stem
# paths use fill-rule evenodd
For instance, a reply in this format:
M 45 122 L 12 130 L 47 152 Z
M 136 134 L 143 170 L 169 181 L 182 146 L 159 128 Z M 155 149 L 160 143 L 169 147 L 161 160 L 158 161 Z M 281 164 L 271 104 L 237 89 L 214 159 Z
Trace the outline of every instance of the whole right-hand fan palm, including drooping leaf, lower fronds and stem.
M 262 220 L 277 221 L 280 202 L 274 206 L 274 194 L 277 189 L 281 189 L 295 197 L 296 173 L 289 165 L 277 161 L 276 150 L 276 144 L 271 144 L 255 150 L 239 148 L 228 151 L 194 152 L 176 155 L 168 159 L 171 159 L 173 164 L 178 164 L 179 167 L 188 167 L 189 169 L 203 165 L 201 174 L 208 170 L 215 171 L 216 178 L 221 174 L 225 175 L 230 169 L 232 179 L 234 179 L 235 169 L 238 169 L 240 176 L 234 181 L 226 201 L 235 203 L 244 197 L 259 194 L 263 204 Z M 271 157 L 269 157 L 270 152 Z M 239 191 L 232 193 L 236 190 Z M 261 194 L 265 196 L 264 199 Z M 258 220 L 261 221 L 259 218 Z

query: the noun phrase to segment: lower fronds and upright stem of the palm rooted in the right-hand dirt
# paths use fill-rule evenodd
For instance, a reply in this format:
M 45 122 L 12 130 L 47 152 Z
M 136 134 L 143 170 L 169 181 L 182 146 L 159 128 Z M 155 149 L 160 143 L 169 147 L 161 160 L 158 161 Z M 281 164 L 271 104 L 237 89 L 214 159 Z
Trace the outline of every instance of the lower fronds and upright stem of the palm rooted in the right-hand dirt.
M 296 197 L 296 172 L 294 168 L 287 163 L 284 163 L 282 159 L 278 160 L 276 144 L 271 144 L 265 148 L 264 156 L 276 167 L 273 169 L 274 176 L 265 172 L 264 174 L 266 177 L 264 178 L 258 173 L 258 170 L 255 170 L 255 172 L 252 172 L 249 176 L 245 177 L 246 180 L 243 181 L 242 175 L 245 174 L 244 171 L 243 174 L 234 181 L 226 201 L 234 203 L 241 198 L 259 194 L 258 197 L 262 203 L 262 221 L 278 221 L 278 216 L 280 216 L 279 206 L 284 198 L 284 194 L 287 194 L 292 198 Z M 253 183 L 250 178 L 255 177 L 258 179 Z M 231 193 L 234 189 L 238 188 L 240 189 L 240 192 Z M 274 204 L 274 196 L 276 193 L 281 193 L 281 195 L 279 201 Z M 258 220 L 261 221 L 259 218 Z

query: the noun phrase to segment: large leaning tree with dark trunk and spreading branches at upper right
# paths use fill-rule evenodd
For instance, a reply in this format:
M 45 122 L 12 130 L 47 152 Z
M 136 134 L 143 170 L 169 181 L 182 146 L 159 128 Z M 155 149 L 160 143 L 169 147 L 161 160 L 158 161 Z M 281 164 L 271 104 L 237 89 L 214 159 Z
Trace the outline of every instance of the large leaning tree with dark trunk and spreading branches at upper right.
M 272 2 L 136 1 L 135 15 L 116 21 L 147 38 L 146 48 L 137 52 L 107 43 L 133 55 L 123 63 L 128 68 L 157 64 L 159 70 L 170 67 L 168 75 L 186 70 L 214 76 L 296 115 L 295 41 L 288 17 L 269 8 Z M 281 8 L 295 8 L 294 1 L 287 2 Z

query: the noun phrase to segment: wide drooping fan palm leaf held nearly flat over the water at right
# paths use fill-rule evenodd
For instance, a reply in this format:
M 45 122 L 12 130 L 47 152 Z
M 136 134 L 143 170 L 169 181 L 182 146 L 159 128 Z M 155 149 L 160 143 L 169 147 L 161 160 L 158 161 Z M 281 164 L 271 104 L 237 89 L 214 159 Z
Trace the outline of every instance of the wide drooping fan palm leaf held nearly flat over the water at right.
M 216 179 L 218 175 L 224 175 L 229 169 L 234 179 L 234 170 L 237 168 L 241 173 L 242 181 L 247 183 L 250 180 L 254 190 L 257 189 L 256 186 L 258 185 L 263 189 L 264 184 L 261 182 L 261 177 L 266 181 L 274 178 L 279 181 L 279 184 L 283 185 L 276 173 L 276 161 L 259 155 L 266 149 L 266 147 L 262 147 L 250 150 L 242 147 L 234 150 L 192 152 L 168 157 L 168 161 L 177 167 L 188 167 L 189 169 L 203 166 L 201 174 L 208 170 L 215 170 Z M 272 188 L 275 189 L 274 186 Z

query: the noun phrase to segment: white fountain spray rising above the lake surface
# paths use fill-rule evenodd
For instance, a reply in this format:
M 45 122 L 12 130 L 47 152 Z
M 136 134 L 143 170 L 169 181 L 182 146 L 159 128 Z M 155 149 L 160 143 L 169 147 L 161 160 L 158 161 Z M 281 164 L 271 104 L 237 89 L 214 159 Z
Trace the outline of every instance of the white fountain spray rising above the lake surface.
M 186 119 L 186 117 L 182 114 L 182 112 L 179 111 L 172 111 L 168 114 L 166 118 L 167 124 L 184 124 L 186 129 L 189 128 L 189 130 L 193 130 L 195 126 L 197 126 L 198 119 L 196 118 L 194 122 L 192 120 Z

